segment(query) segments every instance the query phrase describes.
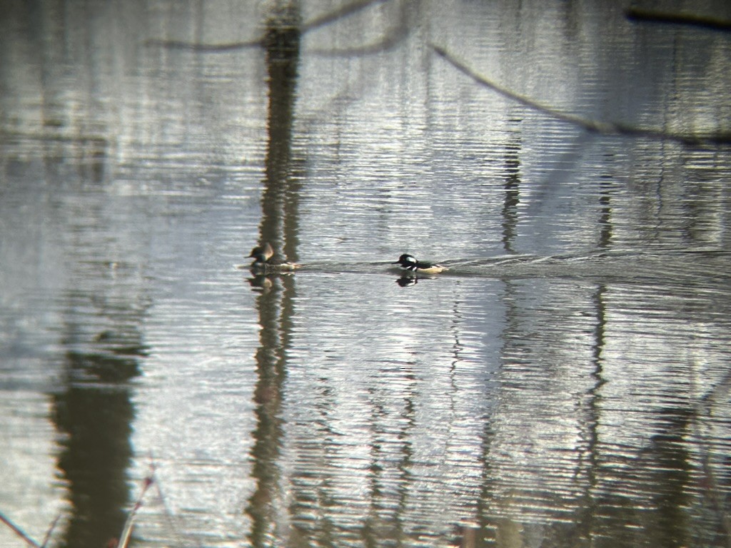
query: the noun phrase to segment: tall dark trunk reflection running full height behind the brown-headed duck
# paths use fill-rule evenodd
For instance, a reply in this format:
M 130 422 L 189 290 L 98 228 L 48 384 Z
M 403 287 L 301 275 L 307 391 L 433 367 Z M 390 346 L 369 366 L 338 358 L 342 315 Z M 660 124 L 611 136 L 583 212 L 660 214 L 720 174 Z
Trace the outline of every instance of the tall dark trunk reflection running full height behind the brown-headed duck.
M 279 5 L 268 20 L 264 40 L 269 84 L 268 149 L 262 192 L 260 242 L 277 254 L 298 260 L 299 186 L 292 169 L 292 121 L 300 56 L 300 11 L 297 2 Z M 263 279 L 262 279 L 263 278 Z M 270 546 L 277 531 L 279 454 L 283 437 L 281 403 L 287 375 L 286 352 L 291 332 L 295 278 L 257 276 L 252 286 L 263 289 L 257 298 L 260 346 L 256 354 L 254 389 L 257 427 L 252 433 L 252 475 L 257 484 L 246 513 L 251 517 L 249 539 L 254 547 Z

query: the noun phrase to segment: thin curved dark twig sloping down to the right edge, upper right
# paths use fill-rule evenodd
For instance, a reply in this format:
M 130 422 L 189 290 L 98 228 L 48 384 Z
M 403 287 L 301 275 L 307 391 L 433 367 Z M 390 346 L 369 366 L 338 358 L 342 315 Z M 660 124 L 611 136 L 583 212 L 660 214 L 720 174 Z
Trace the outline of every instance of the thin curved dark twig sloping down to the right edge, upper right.
M 662 132 L 657 129 L 646 129 L 635 126 L 630 126 L 625 123 L 617 122 L 602 122 L 597 120 L 590 120 L 588 118 L 582 118 L 574 114 L 564 113 L 561 110 L 556 110 L 553 107 L 539 103 L 530 99 L 529 97 L 515 93 L 508 88 L 505 88 L 498 83 L 489 80 L 488 78 L 480 75 L 477 71 L 471 68 L 463 61 L 459 60 L 455 56 L 452 56 L 447 50 L 439 46 L 431 46 L 434 52 L 440 57 L 444 58 L 449 62 L 455 69 L 462 72 L 471 78 L 475 83 L 482 85 L 485 88 L 489 88 L 497 93 L 501 94 L 508 99 L 512 99 L 515 102 L 525 105 L 533 110 L 538 110 L 544 114 L 547 114 L 558 120 L 572 123 L 581 129 L 591 133 L 598 133 L 602 135 L 624 135 L 629 137 L 645 137 L 648 139 L 655 140 L 671 140 L 682 142 L 685 145 L 702 145 L 702 144 L 728 144 L 731 143 L 731 133 L 713 133 L 713 134 L 678 134 Z

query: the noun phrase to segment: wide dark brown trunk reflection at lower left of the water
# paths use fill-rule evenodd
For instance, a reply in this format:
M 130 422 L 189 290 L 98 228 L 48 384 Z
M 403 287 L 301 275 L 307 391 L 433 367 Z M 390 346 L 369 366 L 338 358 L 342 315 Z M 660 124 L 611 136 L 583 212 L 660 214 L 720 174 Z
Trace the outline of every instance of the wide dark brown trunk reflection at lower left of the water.
M 126 518 L 135 416 L 129 380 L 140 373 L 145 347 L 136 309 L 105 305 L 85 318 L 79 311 L 90 295 L 70 292 L 67 298 L 72 314 L 64 336 L 66 377 L 53 395 L 53 420 L 63 433 L 58 468 L 72 503 L 64 544 L 98 548 L 119 535 Z M 98 324 L 110 328 L 91 336 L 85 332 Z

